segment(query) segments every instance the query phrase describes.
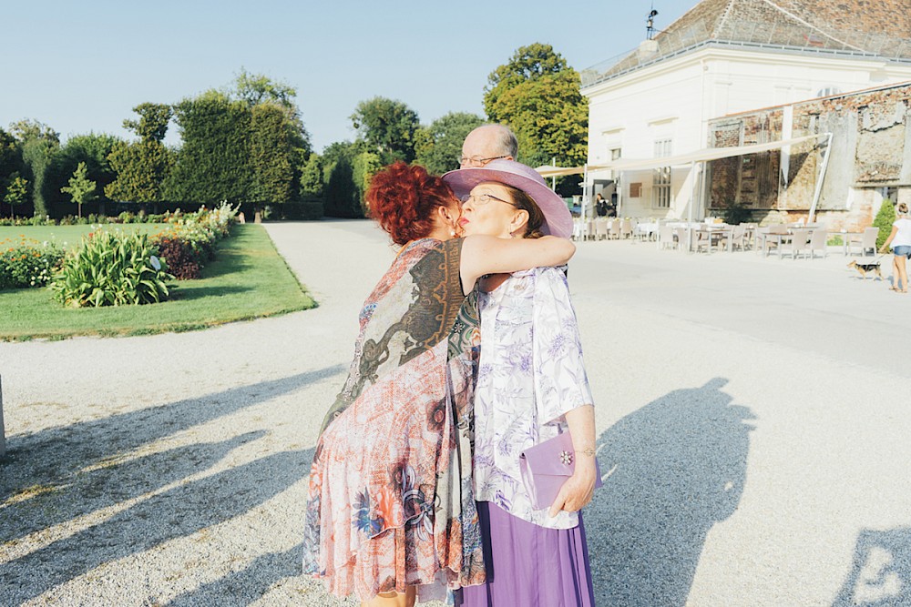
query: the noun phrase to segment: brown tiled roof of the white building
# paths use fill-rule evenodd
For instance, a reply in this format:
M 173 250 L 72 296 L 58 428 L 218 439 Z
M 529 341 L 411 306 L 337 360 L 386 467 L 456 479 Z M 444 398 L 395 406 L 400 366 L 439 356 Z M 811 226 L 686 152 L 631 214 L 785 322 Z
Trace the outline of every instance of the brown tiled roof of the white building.
M 582 87 L 703 46 L 911 63 L 909 0 L 702 0 L 650 46 L 582 72 Z

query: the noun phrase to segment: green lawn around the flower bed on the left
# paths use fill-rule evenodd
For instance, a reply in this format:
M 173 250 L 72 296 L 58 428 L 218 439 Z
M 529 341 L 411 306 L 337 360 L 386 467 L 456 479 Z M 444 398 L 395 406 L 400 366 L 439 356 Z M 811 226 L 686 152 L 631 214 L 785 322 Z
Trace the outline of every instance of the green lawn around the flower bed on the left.
M 89 226 L 11 229 L 14 238 L 21 234 L 41 240 L 53 234 L 57 241 L 69 243 L 90 231 Z M 3 238 L 6 235 L 0 232 L 0 240 Z M 174 287 L 173 298 L 160 304 L 82 309 L 64 308 L 46 288 L 0 291 L 0 339 L 204 329 L 316 305 L 275 250 L 266 230 L 253 224 L 232 229 L 232 236 L 220 243 L 218 260 L 203 269 L 200 280 L 175 281 L 169 287 Z

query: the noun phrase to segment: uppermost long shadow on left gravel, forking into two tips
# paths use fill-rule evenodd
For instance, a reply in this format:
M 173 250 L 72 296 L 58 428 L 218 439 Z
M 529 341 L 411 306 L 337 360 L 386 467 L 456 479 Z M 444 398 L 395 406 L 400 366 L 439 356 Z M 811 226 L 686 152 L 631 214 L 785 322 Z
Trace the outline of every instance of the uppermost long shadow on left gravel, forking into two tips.
M 143 446 L 342 371 L 343 366 L 337 365 L 11 437 L 8 457 L 0 464 L 0 551 L 12 549 L 29 533 L 207 470 L 230 450 L 262 434 L 250 432 L 148 454 L 142 453 Z

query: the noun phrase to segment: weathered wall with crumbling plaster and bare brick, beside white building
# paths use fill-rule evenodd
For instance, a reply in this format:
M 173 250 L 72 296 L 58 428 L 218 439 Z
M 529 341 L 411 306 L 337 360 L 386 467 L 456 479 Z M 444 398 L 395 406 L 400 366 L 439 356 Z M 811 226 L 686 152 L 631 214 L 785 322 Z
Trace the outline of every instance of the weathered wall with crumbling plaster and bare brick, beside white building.
M 830 229 L 860 229 L 873 221 L 881 188 L 911 199 L 911 83 L 793 104 L 793 135 L 832 133 L 816 218 Z M 783 106 L 715 118 L 709 145 L 731 147 L 782 139 Z M 710 214 L 745 207 L 763 223 L 807 218 L 824 146 L 790 150 L 787 180 L 782 151 L 722 158 L 710 164 Z

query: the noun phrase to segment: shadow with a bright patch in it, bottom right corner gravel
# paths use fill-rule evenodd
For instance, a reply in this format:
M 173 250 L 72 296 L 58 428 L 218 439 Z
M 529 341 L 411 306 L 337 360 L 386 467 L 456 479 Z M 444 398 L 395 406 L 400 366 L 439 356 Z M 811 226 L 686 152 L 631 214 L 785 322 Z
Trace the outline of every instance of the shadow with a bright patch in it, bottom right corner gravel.
M 911 605 L 911 527 L 861 531 L 854 565 L 832 605 Z

